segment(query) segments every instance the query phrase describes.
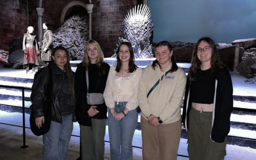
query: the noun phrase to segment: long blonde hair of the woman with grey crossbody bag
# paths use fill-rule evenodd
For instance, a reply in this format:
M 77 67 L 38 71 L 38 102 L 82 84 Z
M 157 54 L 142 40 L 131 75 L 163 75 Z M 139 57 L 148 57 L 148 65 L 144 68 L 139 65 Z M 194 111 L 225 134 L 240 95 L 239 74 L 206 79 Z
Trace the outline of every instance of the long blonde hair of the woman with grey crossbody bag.
M 89 44 L 94 44 L 97 48 L 98 56 L 97 56 L 97 60 L 96 60 L 96 66 L 97 66 L 97 68 L 99 68 L 99 74 L 105 74 L 105 69 L 104 69 L 104 67 L 102 67 L 104 54 L 100 48 L 99 43 L 95 40 L 88 40 L 84 46 L 84 58 L 82 61 L 83 67 L 85 67 L 86 69 L 90 68 L 91 60 L 88 56 L 88 45 Z

